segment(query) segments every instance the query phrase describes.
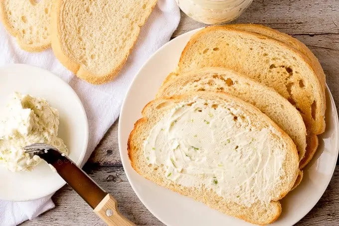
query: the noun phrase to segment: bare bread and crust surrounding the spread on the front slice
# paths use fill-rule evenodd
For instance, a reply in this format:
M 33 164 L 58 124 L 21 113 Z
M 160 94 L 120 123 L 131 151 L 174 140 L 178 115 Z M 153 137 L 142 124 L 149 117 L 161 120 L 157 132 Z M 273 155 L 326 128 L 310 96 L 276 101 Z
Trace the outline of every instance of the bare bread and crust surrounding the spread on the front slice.
M 207 102 L 207 105 L 203 105 L 206 107 L 205 109 L 202 109 L 202 111 L 212 108 L 217 109 L 218 107 L 225 107 L 226 112 L 229 111 L 234 114 L 232 119 L 236 124 L 235 127 L 239 128 L 239 130 L 240 128 L 250 128 L 251 130 L 248 131 L 262 131 L 268 129 L 269 132 L 267 136 L 265 136 L 267 138 L 266 141 L 270 147 L 275 147 L 274 149 L 271 149 L 274 151 L 271 152 L 269 150 L 270 148 L 264 148 L 258 151 L 258 155 L 264 156 L 270 152 L 275 156 L 274 158 L 278 158 L 279 155 L 285 156 L 281 163 L 281 168 L 278 168 L 279 172 L 284 172 L 284 176 L 281 176 L 279 173 L 274 174 L 276 175 L 274 177 L 274 182 L 271 182 L 275 187 L 273 190 L 266 190 L 267 193 L 265 193 L 271 194 L 271 201 L 268 201 L 267 203 L 260 201 L 259 199 L 255 199 L 254 203 L 249 206 L 239 204 L 240 201 L 225 199 L 223 196 L 219 196 L 213 189 L 208 189 L 205 184 L 200 184 L 195 187 L 182 186 L 180 183 L 170 180 L 167 176 L 165 176 L 166 167 L 164 165 L 149 164 L 149 159 L 147 159 L 144 155 L 144 145 L 151 130 L 155 128 L 155 126 L 163 118 L 166 118 L 173 109 L 177 109 L 176 107 L 179 104 L 183 104 L 182 106 L 184 107 L 184 110 L 193 108 L 194 101 L 197 100 L 196 98 Z M 296 178 L 299 174 L 299 161 L 296 147 L 291 138 L 265 114 L 260 112 L 253 105 L 248 104 L 241 99 L 224 93 L 215 92 L 192 92 L 187 95 L 171 98 L 159 98 L 148 103 L 143 109 L 142 114 L 143 118 L 136 122 L 128 140 L 128 155 L 131 160 L 131 165 L 140 175 L 160 186 L 202 202 L 215 210 L 253 224 L 266 225 L 277 220 L 281 213 L 279 200 L 282 199 L 295 184 Z M 177 125 L 180 124 L 178 123 Z M 211 123 L 211 126 L 212 125 L 213 124 Z M 157 148 L 158 147 L 155 147 L 155 149 Z M 254 151 L 255 149 L 251 150 Z M 225 149 L 224 151 L 226 152 L 227 150 Z M 208 150 L 208 152 L 214 152 L 214 149 Z M 265 169 L 270 167 L 272 167 L 271 164 L 268 164 Z M 183 170 L 185 171 L 185 169 Z M 243 170 L 243 168 L 236 170 Z M 266 184 L 264 183 L 261 185 L 265 186 Z M 261 189 L 257 187 L 252 188 L 254 190 Z M 262 189 L 265 188 L 263 187 Z M 252 194 L 252 192 L 250 194 Z M 253 195 L 255 196 L 255 194 Z

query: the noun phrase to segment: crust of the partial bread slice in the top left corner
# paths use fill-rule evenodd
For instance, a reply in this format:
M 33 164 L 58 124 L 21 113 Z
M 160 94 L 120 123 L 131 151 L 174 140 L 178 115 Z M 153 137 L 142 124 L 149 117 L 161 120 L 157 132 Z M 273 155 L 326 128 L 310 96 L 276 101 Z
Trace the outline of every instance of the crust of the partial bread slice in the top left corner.
M 50 42 L 48 44 L 35 45 L 35 46 L 27 45 L 26 43 L 24 43 L 22 39 L 20 38 L 20 36 L 17 35 L 17 30 L 10 25 L 7 17 L 5 16 L 5 13 L 4 13 L 5 9 L 4 9 L 3 4 L 4 4 L 4 1 L 0 0 L 0 20 L 2 21 L 2 24 L 4 28 L 8 31 L 8 33 L 12 35 L 13 37 L 15 37 L 16 42 L 21 49 L 27 52 L 42 52 L 51 46 Z

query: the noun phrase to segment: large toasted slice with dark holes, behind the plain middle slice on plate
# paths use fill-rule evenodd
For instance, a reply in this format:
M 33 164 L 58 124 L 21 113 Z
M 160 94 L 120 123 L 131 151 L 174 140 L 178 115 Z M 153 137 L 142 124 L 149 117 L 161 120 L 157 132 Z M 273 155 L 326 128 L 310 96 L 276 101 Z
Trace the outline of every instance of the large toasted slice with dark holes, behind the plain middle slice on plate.
M 298 50 L 257 33 L 210 26 L 191 37 L 182 51 L 178 72 L 211 66 L 235 70 L 274 88 L 297 107 L 311 133 L 324 132 L 322 84 Z

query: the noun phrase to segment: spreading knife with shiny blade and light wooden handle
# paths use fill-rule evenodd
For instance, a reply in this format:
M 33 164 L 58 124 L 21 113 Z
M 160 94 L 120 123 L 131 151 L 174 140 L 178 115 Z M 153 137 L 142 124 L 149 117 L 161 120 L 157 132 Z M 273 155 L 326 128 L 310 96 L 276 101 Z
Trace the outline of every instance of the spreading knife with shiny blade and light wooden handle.
M 135 226 L 118 211 L 117 201 L 58 149 L 46 144 L 33 144 L 24 147 L 24 150 L 30 157 L 37 155 L 51 165 L 107 225 Z

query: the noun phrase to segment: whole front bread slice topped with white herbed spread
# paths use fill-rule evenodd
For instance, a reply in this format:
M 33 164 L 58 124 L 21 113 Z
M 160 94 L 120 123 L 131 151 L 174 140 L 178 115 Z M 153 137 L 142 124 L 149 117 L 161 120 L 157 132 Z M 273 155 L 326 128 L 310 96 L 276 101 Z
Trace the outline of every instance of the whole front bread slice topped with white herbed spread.
M 253 224 L 277 220 L 299 158 L 292 139 L 269 117 L 215 92 L 159 98 L 142 114 L 128 140 L 140 175 Z

